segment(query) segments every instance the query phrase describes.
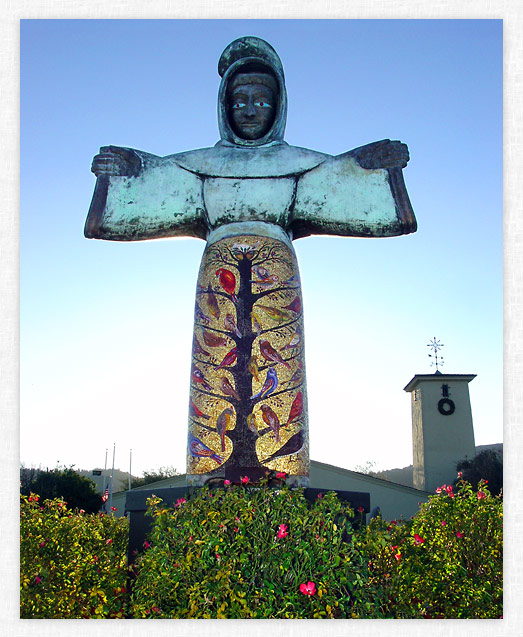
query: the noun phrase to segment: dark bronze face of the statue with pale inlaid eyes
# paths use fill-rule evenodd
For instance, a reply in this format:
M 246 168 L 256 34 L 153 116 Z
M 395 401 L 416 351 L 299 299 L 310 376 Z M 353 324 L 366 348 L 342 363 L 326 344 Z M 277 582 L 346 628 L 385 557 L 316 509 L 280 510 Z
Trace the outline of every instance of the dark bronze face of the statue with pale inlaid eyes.
M 240 84 L 229 97 L 229 118 L 242 139 L 260 139 L 274 121 L 274 92 L 263 84 Z

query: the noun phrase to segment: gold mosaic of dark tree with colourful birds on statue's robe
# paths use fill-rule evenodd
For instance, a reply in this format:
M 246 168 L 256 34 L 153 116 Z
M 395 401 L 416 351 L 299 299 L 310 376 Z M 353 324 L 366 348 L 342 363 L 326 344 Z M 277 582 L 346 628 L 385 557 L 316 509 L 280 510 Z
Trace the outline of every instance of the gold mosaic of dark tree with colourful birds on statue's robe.
M 304 365 L 294 254 L 250 236 L 211 246 L 196 291 L 189 472 L 305 473 Z

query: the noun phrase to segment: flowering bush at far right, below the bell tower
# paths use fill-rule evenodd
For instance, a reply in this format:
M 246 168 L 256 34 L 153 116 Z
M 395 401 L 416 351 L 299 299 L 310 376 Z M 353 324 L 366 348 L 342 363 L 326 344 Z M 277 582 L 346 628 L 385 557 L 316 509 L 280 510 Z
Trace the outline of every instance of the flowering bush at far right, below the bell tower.
M 485 484 L 443 485 L 408 522 L 372 520 L 358 539 L 387 617 L 498 618 L 503 501 Z

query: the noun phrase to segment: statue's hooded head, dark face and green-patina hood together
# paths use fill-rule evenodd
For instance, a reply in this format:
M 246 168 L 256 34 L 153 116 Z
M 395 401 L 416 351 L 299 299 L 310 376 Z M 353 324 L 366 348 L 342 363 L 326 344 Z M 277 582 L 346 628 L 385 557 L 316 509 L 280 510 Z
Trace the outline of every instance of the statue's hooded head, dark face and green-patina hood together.
M 222 53 L 218 73 L 222 78 L 218 93 L 222 140 L 243 147 L 283 141 L 287 92 L 283 66 L 272 46 L 256 37 L 239 38 Z M 244 119 L 249 108 L 252 125 Z

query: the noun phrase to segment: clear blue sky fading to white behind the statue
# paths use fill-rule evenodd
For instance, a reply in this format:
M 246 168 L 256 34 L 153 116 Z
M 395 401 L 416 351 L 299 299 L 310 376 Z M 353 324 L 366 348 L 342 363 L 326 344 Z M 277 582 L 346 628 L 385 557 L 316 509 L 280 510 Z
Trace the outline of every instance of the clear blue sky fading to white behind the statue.
M 310 237 L 303 283 L 310 453 L 412 462 L 414 374 L 470 384 L 476 444 L 503 440 L 500 20 L 24 20 L 21 461 L 185 471 L 194 292 L 204 242 L 87 240 L 102 145 L 167 155 L 218 141 L 218 58 L 279 53 L 286 141 L 333 155 L 409 146 L 418 232 Z M 451 444 L 451 441 L 449 441 Z

